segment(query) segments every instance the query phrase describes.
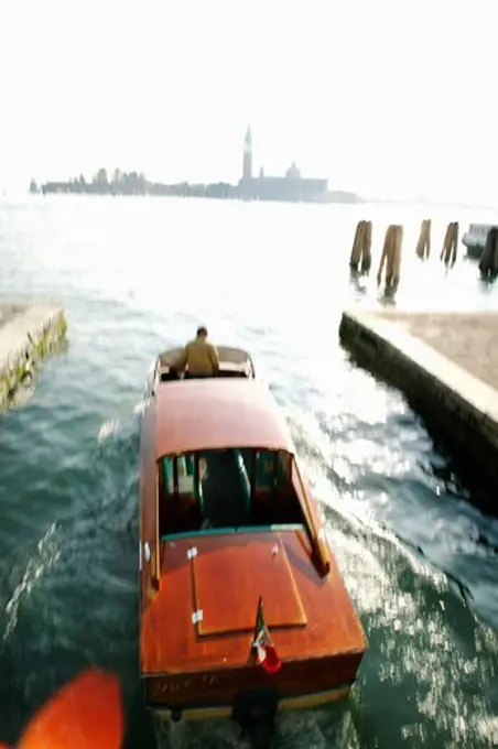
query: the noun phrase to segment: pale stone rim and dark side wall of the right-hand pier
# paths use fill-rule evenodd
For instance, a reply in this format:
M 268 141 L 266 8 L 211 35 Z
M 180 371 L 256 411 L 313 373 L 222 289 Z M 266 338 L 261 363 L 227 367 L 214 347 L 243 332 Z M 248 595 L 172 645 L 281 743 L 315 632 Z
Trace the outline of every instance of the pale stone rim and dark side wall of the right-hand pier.
M 344 312 L 342 345 L 358 365 L 401 390 L 456 458 L 498 487 L 498 391 L 387 317 Z

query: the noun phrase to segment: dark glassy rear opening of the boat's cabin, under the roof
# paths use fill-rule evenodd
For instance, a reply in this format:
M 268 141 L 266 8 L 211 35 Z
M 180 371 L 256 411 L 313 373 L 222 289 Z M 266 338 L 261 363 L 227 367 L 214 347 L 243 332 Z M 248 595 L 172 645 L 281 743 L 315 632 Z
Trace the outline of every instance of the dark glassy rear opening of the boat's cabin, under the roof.
M 306 525 L 286 451 L 219 449 L 158 462 L 160 538 Z

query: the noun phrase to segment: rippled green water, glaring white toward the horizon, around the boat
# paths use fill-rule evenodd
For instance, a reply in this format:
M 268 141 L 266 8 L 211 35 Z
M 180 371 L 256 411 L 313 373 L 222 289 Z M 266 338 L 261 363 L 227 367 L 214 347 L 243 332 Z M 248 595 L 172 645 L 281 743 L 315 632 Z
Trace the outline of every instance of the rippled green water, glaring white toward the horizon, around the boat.
M 430 215 L 430 214 L 429 214 Z M 159 350 L 205 322 L 251 350 L 284 409 L 370 650 L 347 704 L 279 720 L 275 747 L 498 743 L 498 521 L 394 390 L 339 348 L 340 312 L 379 304 L 388 222 L 405 226 L 399 307 L 498 308 L 476 267 L 414 245 L 425 213 L 76 196 L 0 203 L 0 293 L 61 300 L 68 350 L 0 419 L 0 740 L 88 663 L 119 673 L 127 747 L 155 746 L 138 680 L 138 448 Z M 351 283 L 356 220 L 370 281 Z M 242 747 L 229 721 L 182 747 Z

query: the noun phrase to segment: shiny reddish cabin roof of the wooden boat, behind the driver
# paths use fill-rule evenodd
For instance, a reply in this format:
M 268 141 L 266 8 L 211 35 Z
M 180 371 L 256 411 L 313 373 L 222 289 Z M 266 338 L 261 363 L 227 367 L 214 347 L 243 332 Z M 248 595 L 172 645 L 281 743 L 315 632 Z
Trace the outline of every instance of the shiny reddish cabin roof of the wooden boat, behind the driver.
M 155 458 L 176 453 L 252 447 L 294 453 L 268 386 L 246 378 L 176 380 L 155 397 Z

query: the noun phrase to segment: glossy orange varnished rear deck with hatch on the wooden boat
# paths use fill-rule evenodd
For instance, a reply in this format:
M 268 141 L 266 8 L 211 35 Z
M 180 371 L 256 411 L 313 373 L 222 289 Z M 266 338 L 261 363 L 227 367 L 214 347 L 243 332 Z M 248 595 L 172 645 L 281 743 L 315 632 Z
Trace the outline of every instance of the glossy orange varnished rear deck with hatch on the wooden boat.
M 275 544 L 280 545 L 277 555 L 272 554 Z M 197 555 L 188 558 L 193 546 Z M 197 582 L 196 589 L 199 569 L 202 583 Z M 361 626 L 333 557 L 329 574 L 320 577 L 300 532 L 194 536 L 161 545 L 159 594 L 150 600 L 147 591 L 142 593 L 142 675 L 238 669 L 252 663 L 260 594 L 283 663 L 366 650 Z M 203 607 L 201 628 L 192 619 L 197 607 Z

